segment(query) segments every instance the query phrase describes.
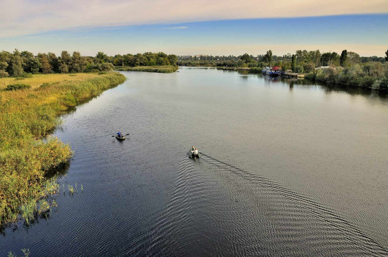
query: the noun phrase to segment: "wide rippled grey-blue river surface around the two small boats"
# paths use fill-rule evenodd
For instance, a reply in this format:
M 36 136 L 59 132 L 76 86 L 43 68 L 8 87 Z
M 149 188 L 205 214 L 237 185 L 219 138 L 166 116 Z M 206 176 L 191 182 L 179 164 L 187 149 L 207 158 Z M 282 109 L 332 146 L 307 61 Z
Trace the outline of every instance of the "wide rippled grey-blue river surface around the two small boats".
M 83 191 L 0 255 L 388 256 L 386 93 L 179 71 L 123 72 L 64 115 L 59 183 Z

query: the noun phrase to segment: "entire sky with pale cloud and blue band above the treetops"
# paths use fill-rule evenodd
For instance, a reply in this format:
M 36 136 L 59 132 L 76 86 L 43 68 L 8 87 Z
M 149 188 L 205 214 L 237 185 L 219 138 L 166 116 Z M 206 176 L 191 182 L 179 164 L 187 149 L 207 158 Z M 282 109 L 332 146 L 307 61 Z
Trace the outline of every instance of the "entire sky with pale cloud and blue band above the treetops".
M 388 0 L 1 0 L 0 50 L 385 56 Z

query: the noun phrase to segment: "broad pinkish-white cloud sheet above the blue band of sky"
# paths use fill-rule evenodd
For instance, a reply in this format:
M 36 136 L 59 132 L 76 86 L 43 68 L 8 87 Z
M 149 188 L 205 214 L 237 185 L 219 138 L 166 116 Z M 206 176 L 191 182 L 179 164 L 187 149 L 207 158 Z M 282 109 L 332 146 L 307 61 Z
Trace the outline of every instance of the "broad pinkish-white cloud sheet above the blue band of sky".
M 275 6 L 275 8 L 274 8 Z M 387 13 L 387 0 L 2 0 L 0 38 L 68 29 Z

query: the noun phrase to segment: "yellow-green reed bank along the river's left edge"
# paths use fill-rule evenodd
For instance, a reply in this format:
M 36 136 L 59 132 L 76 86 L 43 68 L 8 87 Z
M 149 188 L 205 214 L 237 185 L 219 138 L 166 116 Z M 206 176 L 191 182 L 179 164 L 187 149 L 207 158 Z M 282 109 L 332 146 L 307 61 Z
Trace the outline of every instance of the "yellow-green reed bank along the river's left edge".
M 47 195 L 47 173 L 71 156 L 60 140 L 37 138 L 58 125 L 58 115 L 70 106 L 123 81 L 116 72 L 0 79 L 0 225 L 25 216 L 21 206 Z M 29 87 L 5 90 L 15 84 Z

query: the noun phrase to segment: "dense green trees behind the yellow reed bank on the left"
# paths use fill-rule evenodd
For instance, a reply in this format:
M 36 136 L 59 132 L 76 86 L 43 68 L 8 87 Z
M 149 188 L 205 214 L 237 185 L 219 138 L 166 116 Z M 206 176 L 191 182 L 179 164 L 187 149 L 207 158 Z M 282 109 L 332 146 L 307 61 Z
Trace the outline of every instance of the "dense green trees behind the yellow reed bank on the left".
M 76 72 L 100 72 L 112 70 L 114 66 L 157 66 L 177 65 L 176 55 L 167 55 L 163 52 L 136 55 L 107 56 L 104 52 L 98 52 L 95 57 L 83 56 L 80 52 L 62 51 L 61 55 L 54 53 L 38 53 L 33 55 L 29 51 L 15 49 L 12 53 L 0 52 L 0 78 L 20 77 L 23 74 L 50 74 L 50 73 L 76 73 Z

